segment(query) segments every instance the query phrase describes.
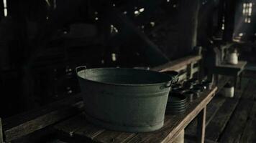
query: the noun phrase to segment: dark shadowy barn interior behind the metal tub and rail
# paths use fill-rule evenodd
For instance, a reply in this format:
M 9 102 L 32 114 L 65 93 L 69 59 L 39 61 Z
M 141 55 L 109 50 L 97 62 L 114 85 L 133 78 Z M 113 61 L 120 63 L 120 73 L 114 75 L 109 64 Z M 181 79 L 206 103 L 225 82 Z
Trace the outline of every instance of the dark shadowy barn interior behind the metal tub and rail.
M 157 66 L 196 46 L 206 49 L 214 38 L 230 41 L 234 29 L 245 35 L 234 28 L 243 3 L 6 0 L 5 7 L 0 1 L 0 117 L 78 93 L 76 66 Z

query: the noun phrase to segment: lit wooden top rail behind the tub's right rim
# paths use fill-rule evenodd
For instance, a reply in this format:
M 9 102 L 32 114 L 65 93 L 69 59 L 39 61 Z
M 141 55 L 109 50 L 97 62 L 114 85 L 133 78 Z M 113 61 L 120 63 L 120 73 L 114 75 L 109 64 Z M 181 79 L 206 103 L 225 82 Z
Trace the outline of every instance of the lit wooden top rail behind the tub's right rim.
M 202 57 L 201 56 L 186 56 L 181 59 L 177 59 L 175 61 L 170 61 L 167 64 L 163 64 L 161 66 L 157 66 L 152 68 L 155 71 L 177 71 L 183 66 L 191 64 L 195 61 L 199 61 Z

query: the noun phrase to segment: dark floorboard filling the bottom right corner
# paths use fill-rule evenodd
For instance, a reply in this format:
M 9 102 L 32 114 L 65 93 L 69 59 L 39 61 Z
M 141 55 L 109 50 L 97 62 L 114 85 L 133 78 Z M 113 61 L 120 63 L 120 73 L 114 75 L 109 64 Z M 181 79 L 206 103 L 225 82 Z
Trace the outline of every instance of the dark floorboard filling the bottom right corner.
M 240 142 L 256 142 L 256 102 L 254 102 L 252 107 L 252 112 L 250 112 L 249 119 L 242 133 Z

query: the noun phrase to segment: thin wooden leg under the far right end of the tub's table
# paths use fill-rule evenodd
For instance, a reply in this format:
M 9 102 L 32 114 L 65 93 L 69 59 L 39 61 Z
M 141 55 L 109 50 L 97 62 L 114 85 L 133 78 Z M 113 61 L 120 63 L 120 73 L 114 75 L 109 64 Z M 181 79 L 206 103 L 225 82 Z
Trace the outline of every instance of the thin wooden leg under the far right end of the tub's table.
M 197 140 L 200 143 L 204 143 L 204 136 L 206 132 L 206 107 L 198 114 L 197 117 Z

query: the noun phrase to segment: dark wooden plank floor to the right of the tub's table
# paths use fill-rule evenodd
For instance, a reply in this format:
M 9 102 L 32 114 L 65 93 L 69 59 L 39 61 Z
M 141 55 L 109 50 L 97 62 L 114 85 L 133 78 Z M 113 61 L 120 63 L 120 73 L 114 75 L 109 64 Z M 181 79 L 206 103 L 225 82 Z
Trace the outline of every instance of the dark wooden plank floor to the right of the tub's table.
M 186 142 L 193 142 L 196 122 L 186 128 Z M 233 99 L 216 95 L 207 107 L 206 142 L 256 142 L 256 72 L 247 72 Z

